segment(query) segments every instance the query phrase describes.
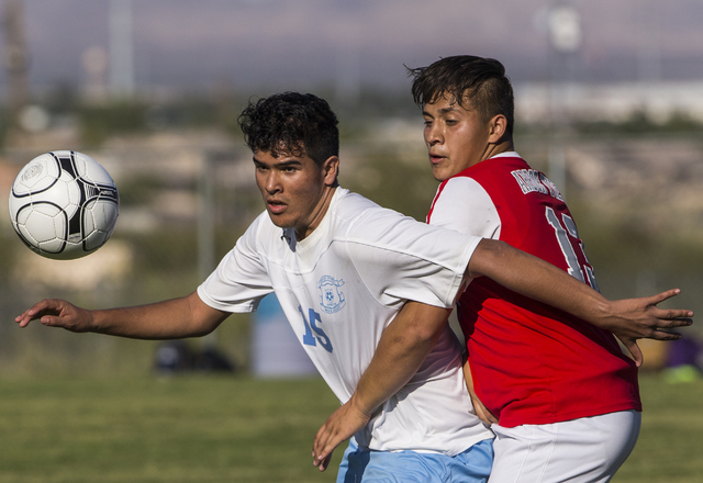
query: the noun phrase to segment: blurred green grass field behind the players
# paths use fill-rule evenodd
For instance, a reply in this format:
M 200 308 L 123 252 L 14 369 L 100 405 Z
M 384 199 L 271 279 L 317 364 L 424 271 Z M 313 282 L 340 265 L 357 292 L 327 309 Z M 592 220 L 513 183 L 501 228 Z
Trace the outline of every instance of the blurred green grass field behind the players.
M 703 381 L 641 378 L 645 416 L 617 483 L 703 475 Z M 337 402 L 319 379 L 0 380 L 0 483 L 332 482 L 312 438 Z

